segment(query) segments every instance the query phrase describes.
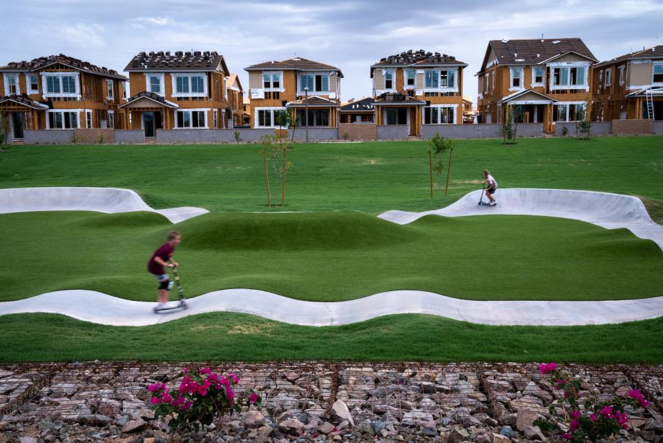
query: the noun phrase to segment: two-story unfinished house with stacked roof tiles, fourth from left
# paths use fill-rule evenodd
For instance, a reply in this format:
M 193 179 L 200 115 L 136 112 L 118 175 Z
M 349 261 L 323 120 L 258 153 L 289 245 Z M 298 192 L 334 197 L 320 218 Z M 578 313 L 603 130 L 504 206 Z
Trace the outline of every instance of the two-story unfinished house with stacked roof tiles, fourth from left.
M 378 125 L 463 123 L 463 63 L 451 55 L 424 50 L 384 57 L 371 66 Z

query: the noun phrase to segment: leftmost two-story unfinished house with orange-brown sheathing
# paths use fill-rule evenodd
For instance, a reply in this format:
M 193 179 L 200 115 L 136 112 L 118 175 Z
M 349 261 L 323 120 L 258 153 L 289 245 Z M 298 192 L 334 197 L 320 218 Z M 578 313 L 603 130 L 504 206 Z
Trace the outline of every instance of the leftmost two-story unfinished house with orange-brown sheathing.
M 10 138 L 27 129 L 121 128 L 126 77 L 66 55 L 0 67 L 0 112 Z

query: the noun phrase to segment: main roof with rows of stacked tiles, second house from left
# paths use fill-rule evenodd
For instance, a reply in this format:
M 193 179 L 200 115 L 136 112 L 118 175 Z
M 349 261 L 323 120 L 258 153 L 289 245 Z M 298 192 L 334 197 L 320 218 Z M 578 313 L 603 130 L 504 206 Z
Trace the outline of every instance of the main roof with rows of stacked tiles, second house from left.
M 166 71 L 215 71 L 218 66 L 225 75 L 229 75 L 228 66 L 222 55 L 216 51 L 159 51 L 139 52 L 124 68 L 127 72 L 153 70 Z

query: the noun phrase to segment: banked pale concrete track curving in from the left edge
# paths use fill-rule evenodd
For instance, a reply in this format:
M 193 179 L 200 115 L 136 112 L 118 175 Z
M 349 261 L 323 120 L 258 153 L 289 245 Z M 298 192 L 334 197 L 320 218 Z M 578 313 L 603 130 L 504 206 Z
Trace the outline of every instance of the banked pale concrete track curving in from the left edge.
M 153 209 L 140 195 L 119 188 L 10 188 L 0 189 L 0 214 L 44 210 L 91 210 L 98 213 L 131 213 L 145 210 L 179 223 L 208 213 L 203 208 Z

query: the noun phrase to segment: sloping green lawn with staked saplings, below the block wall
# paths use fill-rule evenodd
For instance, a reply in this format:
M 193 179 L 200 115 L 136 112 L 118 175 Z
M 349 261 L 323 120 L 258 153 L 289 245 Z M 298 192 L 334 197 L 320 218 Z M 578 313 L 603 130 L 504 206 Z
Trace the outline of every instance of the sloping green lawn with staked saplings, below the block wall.
M 449 195 L 428 191 L 425 141 L 298 144 L 288 154 L 288 210 L 441 208 L 480 185 L 490 168 L 502 188 L 601 190 L 648 197 L 663 221 L 662 137 L 459 140 Z M 12 146 L 1 153 L 0 188 L 111 186 L 137 190 L 157 208 L 265 208 L 257 145 Z M 276 196 L 273 196 L 276 199 Z M 278 209 L 271 209 L 278 210 Z

